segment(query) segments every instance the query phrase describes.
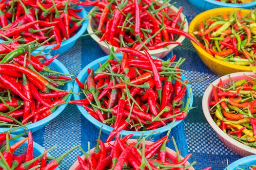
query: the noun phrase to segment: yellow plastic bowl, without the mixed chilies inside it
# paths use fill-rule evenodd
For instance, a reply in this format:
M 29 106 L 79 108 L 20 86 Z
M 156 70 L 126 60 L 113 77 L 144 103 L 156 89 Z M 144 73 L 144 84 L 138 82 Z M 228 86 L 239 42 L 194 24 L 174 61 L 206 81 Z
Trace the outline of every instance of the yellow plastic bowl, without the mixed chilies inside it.
M 195 17 L 190 25 L 189 25 L 189 33 L 191 33 L 193 36 L 193 32 L 198 31 L 198 25 L 201 23 L 203 20 L 206 20 L 209 17 L 214 17 L 214 16 L 219 16 L 220 14 L 229 14 L 229 13 L 234 13 L 234 11 L 241 10 L 241 15 L 248 15 L 250 13 L 250 10 L 247 9 L 239 9 L 239 8 L 216 8 L 216 9 L 211 9 L 208 11 L 205 11 L 197 17 Z M 219 60 L 209 54 L 208 52 L 204 51 L 200 46 L 198 46 L 196 43 L 191 41 L 193 46 L 195 47 L 197 54 L 203 61 L 203 63 L 210 68 L 214 73 L 222 76 L 225 74 L 230 74 L 234 72 L 240 72 L 240 71 L 251 71 L 251 68 L 248 66 L 239 66 L 235 64 L 230 64 L 228 62 Z

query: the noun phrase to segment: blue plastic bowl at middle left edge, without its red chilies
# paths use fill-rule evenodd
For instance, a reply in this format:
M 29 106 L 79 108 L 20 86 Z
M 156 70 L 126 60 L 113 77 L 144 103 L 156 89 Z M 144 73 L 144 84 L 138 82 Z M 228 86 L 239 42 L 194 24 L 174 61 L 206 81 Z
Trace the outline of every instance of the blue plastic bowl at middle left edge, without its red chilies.
M 36 53 L 36 52 L 33 52 L 33 53 Z M 48 55 L 46 56 L 47 59 L 51 58 L 52 56 Z M 62 73 L 65 73 L 65 74 L 69 74 L 69 71 L 67 70 L 67 68 L 59 62 L 59 60 L 55 59 L 50 65 L 49 67 L 52 69 L 52 70 L 55 70 L 55 71 L 58 71 L 58 72 L 62 72 Z M 60 89 L 63 89 L 63 90 L 66 90 L 66 91 L 70 91 L 70 89 L 72 88 L 72 82 L 69 82 L 67 83 L 66 85 L 64 86 L 59 86 Z M 71 96 L 72 94 L 70 94 L 70 96 L 68 97 L 67 101 L 70 101 L 71 99 Z M 30 130 L 32 133 L 33 132 L 36 132 L 38 131 L 39 129 L 43 128 L 47 123 L 49 123 L 52 119 L 54 119 L 55 117 L 57 117 L 64 109 L 65 107 L 67 106 L 67 104 L 63 104 L 63 105 L 60 105 L 56 110 L 55 112 L 53 112 L 51 115 L 47 116 L 46 118 L 44 119 L 41 119 L 35 123 L 31 123 L 29 125 L 27 125 L 26 127 L 28 128 L 28 130 Z M 9 128 L 0 128 L 0 133 L 1 132 L 5 132 L 5 131 L 8 131 Z M 12 132 L 12 134 L 21 134 L 23 133 L 24 131 L 24 128 L 20 128 L 18 130 L 15 130 Z

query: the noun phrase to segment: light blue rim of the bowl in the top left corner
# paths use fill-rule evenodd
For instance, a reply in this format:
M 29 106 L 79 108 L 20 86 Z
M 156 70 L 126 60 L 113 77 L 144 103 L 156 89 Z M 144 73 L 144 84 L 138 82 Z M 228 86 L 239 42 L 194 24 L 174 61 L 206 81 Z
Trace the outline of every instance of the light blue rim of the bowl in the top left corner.
M 75 8 L 82 8 L 82 11 L 79 12 L 81 17 L 86 17 L 87 16 L 87 12 L 85 11 L 85 9 L 82 6 L 76 6 Z M 66 39 L 65 41 L 62 41 L 61 46 L 65 46 L 65 45 L 69 44 L 70 42 L 76 41 L 82 34 L 84 34 L 85 30 L 87 29 L 87 26 L 88 26 L 88 20 L 86 19 L 82 23 L 82 26 L 79 29 L 79 31 L 77 32 L 77 34 L 73 35 L 69 39 Z M 1 42 L 4 42 L 4 41 L 2 39 L 0 39 L 0 43 Z M 38 49 L 36 49 L 36 51 L 40 51 L 42 49 L 44 49 L 44 51 L 50 50 L 51 48 L 53 48 L 55 46 L 56 46 L 56 44 L 47 45 L 46 48 L 45 48 L 45 46 L 41 46 Z M 61 46 L 60 46 L 60 48 L 61 48 Z M 57 49 L 57 50 L 59 50 L 59 49 Z

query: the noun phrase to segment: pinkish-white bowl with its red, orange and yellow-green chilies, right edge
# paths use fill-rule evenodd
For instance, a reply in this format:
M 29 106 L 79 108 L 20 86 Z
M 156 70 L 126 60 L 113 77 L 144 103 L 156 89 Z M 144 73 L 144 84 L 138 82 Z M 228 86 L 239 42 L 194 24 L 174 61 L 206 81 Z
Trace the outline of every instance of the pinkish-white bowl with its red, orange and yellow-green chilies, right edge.
M 206 89 L 203 113 L 221 141 L 241 156 L 256 154 L 256 74 L 225 75 Z

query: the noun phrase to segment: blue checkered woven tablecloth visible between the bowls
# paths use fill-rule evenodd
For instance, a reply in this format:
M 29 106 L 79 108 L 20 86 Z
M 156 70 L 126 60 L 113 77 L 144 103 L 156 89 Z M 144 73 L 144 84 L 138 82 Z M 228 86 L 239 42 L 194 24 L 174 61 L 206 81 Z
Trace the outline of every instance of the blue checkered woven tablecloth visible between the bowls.
M 183 6 L 183 13 L 188 21 L 191 21 L 198 13 L 195 8 L 190 5 L 187 0 L 176 0 L 176 7 Z M 240 157 L 225 147 L 219 140 L 214 130 L 206 122 L 202 112 L 202 96 L 209 83 L 218 78 L 216 74 L 211 72 L 199 59 L 194 47 L 189 40 L 185 40 L 182 46 L 175 48 L 168 56 L 163 58 L 169 59 L 173 54 L 186 58 L 182 69 L 187 70 L 185 76 L 189 80 L 195 80 L 209 76 L 210 78 L 192 85 L 194 93 L 194 104 L 197 108 L 190 111 L 188 118 L 175 127 L 172 136 L 176 138 L 178 148 L 183 156 L 193 153 L 190 162 L 197 161 L 194 166 L 196 170 L 212 166 L 213 170 L 223 170 L 229 163 L 234 162 Z M 68 70 L 78 75 L 79 72 L 90 62 L 106 54 L 98 47 L 97 43 L 90 37 L 80 38 L 75 47 L 59 57 Z M 34 139 L 37 143 L 45 148 L 57 145 L 57 149 L 51 152 L 52 156 L 59 156 L 74 145 L 80 143 L 82 147 L 87 149 L 87 142 L 91 142 L 91 148 L 96 145 L 98 137 L 98 129 L 94 127 L 87 119 L 85 119 L 75 105 L 69 105 L 54 120 L 52 120 L 43 129 L 34 133 Z M 159 137 L 153 138 L 157 140 Z M 104 141 L 106 135 L 102 135 Z M 169 142 L 172 143 L 172 142 Z M 174 148 L 172 144 L 168 147 Z M 69 154 L 61 163 L 60 170 L 68 170 L 76 161 L 76 155 L 81 155 L 79 150 Z

